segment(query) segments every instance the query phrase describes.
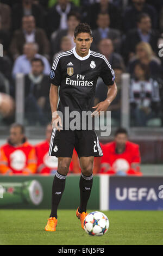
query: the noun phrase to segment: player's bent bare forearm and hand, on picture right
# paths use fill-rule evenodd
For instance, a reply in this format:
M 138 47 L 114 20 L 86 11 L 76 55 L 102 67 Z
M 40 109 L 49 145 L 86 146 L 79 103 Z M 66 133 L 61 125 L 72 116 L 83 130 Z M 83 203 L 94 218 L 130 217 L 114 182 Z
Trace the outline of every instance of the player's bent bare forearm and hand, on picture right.
M 117 86 L 116 83 L 112 86 L 107 86 L 108 87 L 108 93 L 106 100 L 99 102 L 96 106 L 92 107 L 95 108 L 96 110 L 93 111 L 92 115 L 98 115 L 100 114 L 101 111 L 106 111 L 110 105 L 110 103 L 115 99 L 117 95 Z

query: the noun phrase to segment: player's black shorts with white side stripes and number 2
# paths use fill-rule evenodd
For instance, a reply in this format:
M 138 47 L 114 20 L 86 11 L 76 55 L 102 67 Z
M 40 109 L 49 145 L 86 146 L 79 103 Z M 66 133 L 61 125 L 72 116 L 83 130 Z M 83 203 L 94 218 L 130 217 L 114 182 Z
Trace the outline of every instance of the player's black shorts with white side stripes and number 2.
M 58 131 L 53 129 L 49 145 L 49 156 L 72 157 L 74 148 L 78 157 L 103 156 L 95 131 Z

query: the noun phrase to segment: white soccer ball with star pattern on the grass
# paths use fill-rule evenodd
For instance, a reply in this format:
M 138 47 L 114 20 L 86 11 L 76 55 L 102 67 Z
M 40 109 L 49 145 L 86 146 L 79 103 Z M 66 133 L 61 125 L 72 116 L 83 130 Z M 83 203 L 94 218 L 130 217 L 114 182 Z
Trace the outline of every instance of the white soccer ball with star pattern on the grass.
M 108 217 L 100 211 L 93 211 L 84 219 L 84 230 L 89 235 L 104 235 L 108 231 L 108 228 Z

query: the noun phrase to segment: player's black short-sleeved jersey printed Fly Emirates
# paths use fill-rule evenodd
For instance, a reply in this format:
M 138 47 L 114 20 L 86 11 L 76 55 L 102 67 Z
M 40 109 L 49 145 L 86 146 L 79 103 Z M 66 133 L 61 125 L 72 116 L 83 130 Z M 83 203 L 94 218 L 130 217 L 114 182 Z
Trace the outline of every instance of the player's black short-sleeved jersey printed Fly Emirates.
M 57 110 L 63 115 L 65 107 L 81 115 L 83 111 L 93 112 L 98 77 L 103 79 L 106 86 L 114 84 L 114 70 L 104 55 L 89 50 L 87 56 L 80 57 L 76 47 L 58 54 L 49 74 L 51 83 L 60 86 Z

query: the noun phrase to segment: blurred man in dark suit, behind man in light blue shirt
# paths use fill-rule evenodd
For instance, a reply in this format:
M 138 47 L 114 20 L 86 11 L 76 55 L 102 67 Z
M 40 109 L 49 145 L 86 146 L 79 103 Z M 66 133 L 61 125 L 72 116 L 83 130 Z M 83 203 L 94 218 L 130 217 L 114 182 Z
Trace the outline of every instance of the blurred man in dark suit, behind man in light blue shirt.
M 39 45 L 39 53 L 49 57 L 49 42 L 43 29 L 35 27 L 34 16 L 22 17 L 22 29 L 15 31 L 10 45 L 12 58 L 15 60 L 23 53 L 23 45 L 26 42 L 36 42 Z

